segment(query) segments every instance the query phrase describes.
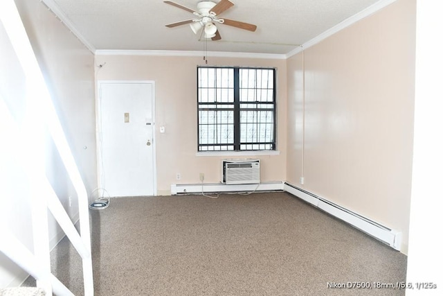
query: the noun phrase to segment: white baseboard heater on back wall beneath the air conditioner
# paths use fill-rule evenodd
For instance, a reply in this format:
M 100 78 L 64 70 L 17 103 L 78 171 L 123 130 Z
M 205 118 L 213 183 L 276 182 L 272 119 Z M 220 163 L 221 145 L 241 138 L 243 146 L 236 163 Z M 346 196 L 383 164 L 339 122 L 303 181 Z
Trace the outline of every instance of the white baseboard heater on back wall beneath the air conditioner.
M 263 182 L 260 184 L 171 184 L 171 194 L 244 192 L 244 191 L 282 191 L 284 182 Z

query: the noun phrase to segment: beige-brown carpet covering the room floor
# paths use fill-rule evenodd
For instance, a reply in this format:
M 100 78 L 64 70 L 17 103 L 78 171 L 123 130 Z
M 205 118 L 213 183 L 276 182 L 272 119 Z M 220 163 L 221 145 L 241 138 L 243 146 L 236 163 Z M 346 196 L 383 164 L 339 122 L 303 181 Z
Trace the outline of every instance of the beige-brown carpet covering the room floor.
M 96 295 L 404 295 L 375 288 L 406 281 L 404 254 L 288 193 L 112 198 L 91 228 Z M 66 239 L 51 259 L 82 295 Z M 328 287 L 348 282 L 372 288 Z

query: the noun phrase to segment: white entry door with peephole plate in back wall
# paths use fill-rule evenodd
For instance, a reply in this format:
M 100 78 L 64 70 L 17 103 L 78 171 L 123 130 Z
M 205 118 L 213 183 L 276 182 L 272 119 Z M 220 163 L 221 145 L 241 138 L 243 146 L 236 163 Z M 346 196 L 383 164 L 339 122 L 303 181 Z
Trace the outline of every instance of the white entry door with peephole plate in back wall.
M 155 195 L 154 82 L 100 82 L 98 119 L 100 187 Z

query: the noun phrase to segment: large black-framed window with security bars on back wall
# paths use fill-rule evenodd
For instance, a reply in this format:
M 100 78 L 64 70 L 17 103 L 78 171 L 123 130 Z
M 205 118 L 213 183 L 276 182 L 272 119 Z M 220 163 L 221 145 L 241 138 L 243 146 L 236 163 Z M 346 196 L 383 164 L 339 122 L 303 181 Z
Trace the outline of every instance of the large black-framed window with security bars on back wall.
M 275 150 L 275 69 L 197 67 L 198 150 Z

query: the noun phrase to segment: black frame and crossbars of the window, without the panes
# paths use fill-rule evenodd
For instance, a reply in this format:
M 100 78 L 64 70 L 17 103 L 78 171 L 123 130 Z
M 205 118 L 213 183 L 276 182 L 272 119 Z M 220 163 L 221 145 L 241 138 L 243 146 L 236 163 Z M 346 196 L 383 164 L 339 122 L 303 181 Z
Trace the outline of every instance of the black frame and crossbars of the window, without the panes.
M 233 69 L 233 96 L 234 100 L 233 103 L 221 103 L 221 102 L 215 102 L 215 103 L 203 103 L 200 101 L 200 89 L 203 89 L 203 87 L 200 87 L 199 83 L 199 69 Z M 272 90 L 272 101 L 240 101 L 240 78 L 239 73 L 240 70 L 271 70 L 273 74 L 273 84 L 272 88 L 266 88 L 268 91 Z M 277 103 L 276 103 L 276 69 L 275 68 L 266 68 L 266 67 L 210 67 L 210 66 L 197 66 L 197 151 L 199 153 L 206 153 L 206 152 L 243 152 L 243 151 L 275 151 L 276 150 L 276 130 L 277 130 L 277 120 L 276 120 L 276 110 L 277 110 Z M 217 87 L 215 87 L 217 89 Z M 259 89 L 258 87 L 253 88 L 255 90 Z M 263 88 L 260 88 L 263 89 Z M 255 105 L 255 107 L 253 106 Z M 261 105 L 262 107 L 258 107 L 258 105 Z M 271 107 L 264 108 L 263 106 L 270 105 Z M 210 107 L 213 106 L 213 107 Z M 248 106 L 248 107 L 245 107 Z M 226 107 L 226 108 L 225 108 Z M 233 133 L 234 133 L 234 141 L 233 143 L 200 143 L 200 126 L 203 125 L 203 123 L 200 122 L 201 114 L 200 111 L 233 111 Z M 260 112 L 271 112 L 272 114 L 272 134 L 271 134 L 271 141 L 265 141 L 265 142 L 258 142 L 258 141 L 252 141 L 252 142 L 242 142 L 241 140 L 241 112 L 257 112 L 259 114 Z M 267 120 L 267 119 L 266 119 Z M 245 122 L 242 121 L 244 124 Z M 247 123 L 247 122 L 246 122 Z M 212 123 L 214 125 L 214 123 Z M 226 123 L 228 124 L 228 123 Z M 251 124 L 270 124 L 267 121 L 265 123 L 262 123 L 257 119 L 257 122 L 251 123 Z M 218 123 L 215 123 L 215 125 L 218 125 Z M 217 138 L 219 137 L 219 134 L 217 134 Z M 258 136 L 257 136 L 258 137 Z M 221 137 L 220 137 L 221 139 Z M 213 147 L 213 150 L 210 150 L 210 147 Z M 233 149 L 230 149 L 233 146 Z M 253 148 L 253 146 L 258 146 L 258 148 Z M 269 147 L 269 148 L 263 148 L 263 146 Z M 202 150 L 203 147 L 207 147 L 208 150 Z M 218 149 L 215 149 L 217 147 Z M 249 147 L 249 148 L 248 148 Z M 262 148 L 260 148 L 262 147 Z

